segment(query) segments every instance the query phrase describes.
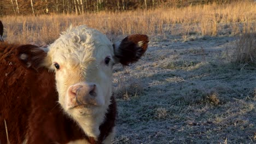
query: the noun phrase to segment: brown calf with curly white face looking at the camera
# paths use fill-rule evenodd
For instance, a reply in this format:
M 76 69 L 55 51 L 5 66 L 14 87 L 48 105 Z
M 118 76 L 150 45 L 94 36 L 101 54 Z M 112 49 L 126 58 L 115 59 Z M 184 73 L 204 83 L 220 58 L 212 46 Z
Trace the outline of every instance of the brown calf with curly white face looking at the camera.
M 112 68 L 138 61 L 146 35 L 112 44 L 86 26 L 45 49 L 0 43 L 2 143 L 110 143 L 116 116 Z

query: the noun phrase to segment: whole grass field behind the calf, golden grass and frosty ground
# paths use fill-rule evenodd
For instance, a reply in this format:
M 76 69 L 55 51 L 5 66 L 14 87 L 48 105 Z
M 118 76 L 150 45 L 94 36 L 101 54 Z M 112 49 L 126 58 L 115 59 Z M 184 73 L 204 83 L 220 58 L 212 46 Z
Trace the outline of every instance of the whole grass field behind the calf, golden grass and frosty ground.
M 113 143 L 256 143 L 255 2 L 1 20 L 19 43 L 49 44 L 71 23 L 149 35 L 138 63 L 114 67 Z

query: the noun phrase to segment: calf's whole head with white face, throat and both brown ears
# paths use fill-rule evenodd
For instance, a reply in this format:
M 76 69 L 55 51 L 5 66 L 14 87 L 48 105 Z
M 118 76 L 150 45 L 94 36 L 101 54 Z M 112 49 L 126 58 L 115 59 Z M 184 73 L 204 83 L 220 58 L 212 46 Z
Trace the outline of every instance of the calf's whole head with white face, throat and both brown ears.
M 69 28 L 43 50 L 37 46 L 18 49 L 28 69 L 55 71 L 59 103 L 88 136 L 97 137 L 112 93 L 112 67 L 129 65 L 147 50 L 148 37 L 133 34 L 117 44 L 86 26 Z M 96 138 L 95 138 L 96 139 Z

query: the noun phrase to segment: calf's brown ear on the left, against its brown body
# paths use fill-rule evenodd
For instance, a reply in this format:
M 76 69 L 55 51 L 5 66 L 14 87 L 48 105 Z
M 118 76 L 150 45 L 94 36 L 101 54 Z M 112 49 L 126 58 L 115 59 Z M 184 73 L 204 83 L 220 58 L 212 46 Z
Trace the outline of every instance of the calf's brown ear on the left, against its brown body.
M 16 56 L 21 64 L 26 69 L 35 71 L 43 67 L 46 55 L 46 51 L 36 45 L 21 45 L 16 51 Z

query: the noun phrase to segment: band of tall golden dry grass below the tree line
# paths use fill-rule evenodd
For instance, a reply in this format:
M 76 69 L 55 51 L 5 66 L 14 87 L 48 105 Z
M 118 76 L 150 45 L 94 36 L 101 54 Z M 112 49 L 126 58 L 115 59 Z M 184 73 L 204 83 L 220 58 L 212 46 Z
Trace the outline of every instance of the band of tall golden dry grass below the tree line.
M 256 3 L 206 4 L 123 13 L 102 11 L 83 15 L 7 16 L 5 39 L 10 42 L 49 44 L 69 25 L 88 25 L 110 38 L 117 35 L 219 35 L 256 32 Z

